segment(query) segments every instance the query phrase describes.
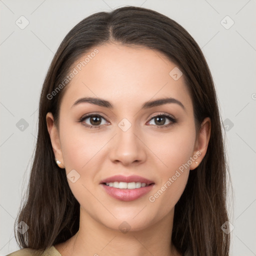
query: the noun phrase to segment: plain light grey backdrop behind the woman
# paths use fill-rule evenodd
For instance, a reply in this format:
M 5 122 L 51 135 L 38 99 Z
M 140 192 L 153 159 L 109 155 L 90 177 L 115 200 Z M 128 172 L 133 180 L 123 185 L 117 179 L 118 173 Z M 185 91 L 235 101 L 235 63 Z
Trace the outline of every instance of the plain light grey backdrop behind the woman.
M 234 190 L 231 255 L 256 255 L 256 0 L 0 0 L 0 255 L 18 249 L 13 223 L 29 177 L 39 92 L 54 52 L 81 19 L 124 5 L 169 16 L 201 47 L 226 129 Z M 23 29 L 21 15 L 29 21 Z

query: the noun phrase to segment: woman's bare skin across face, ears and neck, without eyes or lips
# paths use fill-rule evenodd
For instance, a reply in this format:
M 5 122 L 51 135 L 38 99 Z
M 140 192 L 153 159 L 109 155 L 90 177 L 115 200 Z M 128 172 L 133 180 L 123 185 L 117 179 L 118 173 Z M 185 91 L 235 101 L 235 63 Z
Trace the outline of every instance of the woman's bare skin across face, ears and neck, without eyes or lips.
M 189 171 L 196 168 L 206 153 L 210 119 L 203 120 L 196 136 L 192 100 L 183 76 L 174 80 L 169 72 L 175 64 L 155 50 L 107 43 L 96 47 L 98 53 L 72 78 L 60 103 L 59 126 L 49 112 L 47 128 L 55 157 L 62 171 L 75 169 L 80 177 L 68 184 L 80 203 L 79 231 L 66 242 L 55 245 L 63 255 L 181 255 L 171 244 L 174 206 L 181 196 Z M 86 54 L 85 54 L 86 55 Z M 84 56 L 77 61 L 84 60 Z M 112 109 L 83 102 L 81 97 L 108 100 Z M 167 103 L 141 109 L 144 102 L 173 97 L 185 107 Z M 100 113 L 99 128 L 77 121 L 84 114 Z M 167 113 L 158 124 L 152 116 Z M 126 118 L 127 131 L 118 123 Z M 83 120 L 88 125 L 90 118 Z M 158 124 L 158 126 L 157 126 Z M 98 125 L 99 126 L 99 125 Z M 178 167 L 200 152 L 196 165 L 174 180 L 154 202 L 154 195 Z M 190 170 L 189 170 L 190 169 Z M 140 175 L 154 181 L 152 190 L 133 201 L 109 196 L 99 185 L 103 178 L 122 174 Z M 129 231 L 118 226 L 126 221 Z M 95 254 L 97 253 L 97 254 Z

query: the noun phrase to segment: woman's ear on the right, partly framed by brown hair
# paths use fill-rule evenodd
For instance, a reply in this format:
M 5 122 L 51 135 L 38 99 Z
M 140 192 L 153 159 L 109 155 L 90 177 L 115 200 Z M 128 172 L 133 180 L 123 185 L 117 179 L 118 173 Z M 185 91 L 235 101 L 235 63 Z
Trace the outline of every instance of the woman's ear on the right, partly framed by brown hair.
M 210 118 L 205 117 L 201 123 L 199 134 L 196 137 L 194 151 L 193 151 L 193 155 L 197 155 L 198 157 L 196 159 L 193 157 L 194 160 L 190 165 L 190 170 L 195 169 L 200 164 L 204 155 L 206 154 L 209 139 L 210 139 L 210 130 L 211 130 Z M 196 164 L 195 161 L 198 163 Z

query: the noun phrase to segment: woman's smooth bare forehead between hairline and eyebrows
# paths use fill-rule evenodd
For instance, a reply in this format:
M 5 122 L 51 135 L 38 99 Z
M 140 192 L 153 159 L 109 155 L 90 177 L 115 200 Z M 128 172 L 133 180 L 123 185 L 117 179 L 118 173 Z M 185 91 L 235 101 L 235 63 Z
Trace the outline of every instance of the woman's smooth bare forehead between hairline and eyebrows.
M 70 105 L 81 96 L 131 105 L 169 96 L 186 108 L 192 104 L 183 76 L 175 80 L 170 74 L 177 66 L 157 50 L 108 43 L 92 48 L 72 68 L 76 74 L 63 95 Z

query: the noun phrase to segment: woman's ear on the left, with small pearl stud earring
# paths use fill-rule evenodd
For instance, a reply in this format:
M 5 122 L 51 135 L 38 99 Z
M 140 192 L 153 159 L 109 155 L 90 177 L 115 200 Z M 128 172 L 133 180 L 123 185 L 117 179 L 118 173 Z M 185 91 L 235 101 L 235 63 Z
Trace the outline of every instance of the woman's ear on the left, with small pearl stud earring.
M 58 166 L 60 168 L 64 168 L 64 161 L 59 141 L 59 133 L 56 125 L 54 124 L 54 119 L 51 112 L 48 112 L 46 114 L 46 123 L 55 158 L 57 158 L 61 162 L 60 164 L 58 164 Z

